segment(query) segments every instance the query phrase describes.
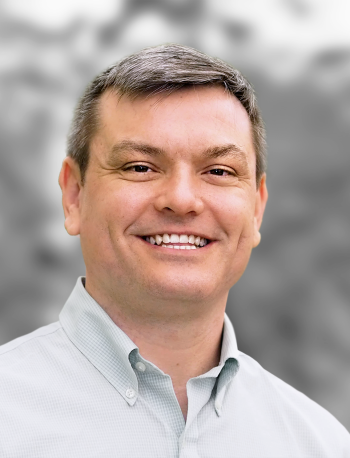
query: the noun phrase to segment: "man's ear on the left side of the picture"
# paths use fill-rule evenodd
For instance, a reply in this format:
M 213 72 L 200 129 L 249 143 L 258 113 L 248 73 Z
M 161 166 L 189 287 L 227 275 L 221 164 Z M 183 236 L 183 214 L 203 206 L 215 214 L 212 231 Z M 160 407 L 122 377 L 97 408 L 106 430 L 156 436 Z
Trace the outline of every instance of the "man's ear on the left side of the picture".
M 83 188 L 78 164 L 71 157 L 62 163 L 58 183 L 62 190 L 64 227 L 69 235 L 80 233 L 80 193 Z

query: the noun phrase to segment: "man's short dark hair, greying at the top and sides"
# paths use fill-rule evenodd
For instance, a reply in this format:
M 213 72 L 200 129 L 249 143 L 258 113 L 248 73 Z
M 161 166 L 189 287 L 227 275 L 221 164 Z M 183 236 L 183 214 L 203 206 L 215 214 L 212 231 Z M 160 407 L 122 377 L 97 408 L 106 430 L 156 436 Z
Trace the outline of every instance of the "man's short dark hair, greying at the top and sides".
M 266 170 L 265 127 L 252 85 L 226 62 L 196 49 L 165 44 L 125 57 L 97 75 L 79 100 L 68 134 L 67 155 L 78 164 L 81 182 L 89 164 L 89 146 L 98 128 L 101 95 L 114 90 L 120 97 L 169 94 L 190 86 L 221 85 L 245 108 L 252 126 L 256 180 Z

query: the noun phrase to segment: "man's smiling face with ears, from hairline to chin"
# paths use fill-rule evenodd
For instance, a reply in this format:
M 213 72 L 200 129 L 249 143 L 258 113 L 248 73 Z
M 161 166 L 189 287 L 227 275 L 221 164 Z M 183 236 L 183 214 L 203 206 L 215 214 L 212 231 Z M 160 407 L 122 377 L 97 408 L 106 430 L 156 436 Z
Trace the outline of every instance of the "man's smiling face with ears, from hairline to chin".
M 134 101 L 106 92 L 90 151 L 83 186 L 70 158 L 60 175 L 65 225 L 80 234 L 89 292 L 227 297 L 260 241 L 267 200 L 240 102 L 219 87 Z M 150 243 L 156 235 L 166 242 L 164 234 L 209 243 Z

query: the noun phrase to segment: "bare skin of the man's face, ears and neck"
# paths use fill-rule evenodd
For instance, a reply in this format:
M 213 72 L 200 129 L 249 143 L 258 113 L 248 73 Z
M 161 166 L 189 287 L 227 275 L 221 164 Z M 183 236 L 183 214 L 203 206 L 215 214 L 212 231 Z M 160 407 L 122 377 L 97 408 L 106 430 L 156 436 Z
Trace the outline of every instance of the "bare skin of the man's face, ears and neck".
M 133 101 L 107 91 L 99 115 L 83 185 L 75 161 L 63 161 L 65 227 L 80 234 L 88 293 L 171 376 L 186 419 L 186 383 L 219 364 L 229 289 L 260 242 L 268 195 L 265 175 L 256 183 L 250 120 L 221 87 Z M 205 156 L 228 144 L 239 152 Z M 140 238 L 163 233 L 212 243 L 174 250 Z

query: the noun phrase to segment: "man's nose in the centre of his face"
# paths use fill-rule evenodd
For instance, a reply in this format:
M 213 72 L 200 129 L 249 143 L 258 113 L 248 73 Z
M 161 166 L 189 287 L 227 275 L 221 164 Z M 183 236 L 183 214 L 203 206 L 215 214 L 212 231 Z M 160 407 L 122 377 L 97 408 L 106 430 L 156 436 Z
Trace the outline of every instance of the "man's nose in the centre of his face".
M 179 216 L 200 214 L 204 208 L 200 191 L 201 182 L 198 176 L 190 168 L 179 167 L 176 172 L 162 180 L 155 199 L 155 208 L 160 212 L 167 210 Z

